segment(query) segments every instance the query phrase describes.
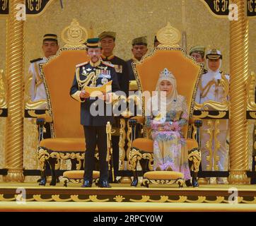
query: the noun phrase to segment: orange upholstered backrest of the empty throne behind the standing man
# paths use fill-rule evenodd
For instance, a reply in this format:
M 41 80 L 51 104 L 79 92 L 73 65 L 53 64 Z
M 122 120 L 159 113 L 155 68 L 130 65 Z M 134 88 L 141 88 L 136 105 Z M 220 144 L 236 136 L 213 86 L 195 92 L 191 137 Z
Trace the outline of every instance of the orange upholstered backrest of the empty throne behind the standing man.
M 64 48 L 45 64 L 40 65 L 50 116 L 52 137 L 83 138 L 80 104 L 69 95 L 76 64 L 88 61 L 85 48 Z

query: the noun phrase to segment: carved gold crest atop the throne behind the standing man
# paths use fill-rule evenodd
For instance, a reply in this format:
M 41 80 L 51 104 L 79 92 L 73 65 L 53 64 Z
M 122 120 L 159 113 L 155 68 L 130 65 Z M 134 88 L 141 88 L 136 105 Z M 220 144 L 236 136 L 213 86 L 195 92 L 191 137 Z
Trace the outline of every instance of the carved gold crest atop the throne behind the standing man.
M 88 39 L 88 31 L 73 19 L 71 25 L 62 30 L 62 40 L 66 43 L 64 47 L 78 47 Z

